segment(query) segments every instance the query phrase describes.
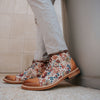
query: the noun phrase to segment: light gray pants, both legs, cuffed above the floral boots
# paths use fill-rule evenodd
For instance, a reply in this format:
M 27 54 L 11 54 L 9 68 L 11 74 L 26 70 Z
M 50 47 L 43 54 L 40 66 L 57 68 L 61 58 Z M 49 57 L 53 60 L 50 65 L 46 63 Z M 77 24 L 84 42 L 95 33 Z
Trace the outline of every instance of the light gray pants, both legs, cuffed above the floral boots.
M 68 50 L 63 32 L 52 5 L 54 0 L 27 0 L 35 14 L 38 27 L 35 60 L 44 60 L 48 54 Z

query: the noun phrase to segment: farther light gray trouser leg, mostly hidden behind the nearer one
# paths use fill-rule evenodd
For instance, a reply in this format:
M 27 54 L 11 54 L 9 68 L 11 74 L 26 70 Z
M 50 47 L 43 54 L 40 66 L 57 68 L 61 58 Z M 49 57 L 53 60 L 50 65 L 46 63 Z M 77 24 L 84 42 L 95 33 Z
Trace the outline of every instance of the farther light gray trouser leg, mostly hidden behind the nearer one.
M 51 0 L 51 2 L 52 2 L 52 5 L 54 5 L 55 0 Z M 41 25 L 38 23 L 38 20 L 36 17 L 35 17 L 35 24 L 37 25 L 38 32 L 36 34 L 37 41 L 36 41 L 36 50 L 34 52 L 34 60 L 47 60 L 49 57 L 48 57 L 47 51 L 45 49 L 45 44 L 43 41 L 43 36 L 42 36 L 43 29 L 41 29 Z

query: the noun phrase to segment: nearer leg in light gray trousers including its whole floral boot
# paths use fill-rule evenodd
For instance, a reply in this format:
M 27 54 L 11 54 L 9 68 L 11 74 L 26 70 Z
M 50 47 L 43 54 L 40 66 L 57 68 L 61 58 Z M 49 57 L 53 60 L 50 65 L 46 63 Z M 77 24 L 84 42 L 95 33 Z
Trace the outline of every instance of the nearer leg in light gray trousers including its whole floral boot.
M 40 28 L 49 61 L 45 71 L 38 78 L 28 79 L 23 89 L 44 90 L 59 84 L 65 78 L 72 78 L 80 73 L 68 52 L 57 15 L 50 0 L 28 0 L 33 9 Z

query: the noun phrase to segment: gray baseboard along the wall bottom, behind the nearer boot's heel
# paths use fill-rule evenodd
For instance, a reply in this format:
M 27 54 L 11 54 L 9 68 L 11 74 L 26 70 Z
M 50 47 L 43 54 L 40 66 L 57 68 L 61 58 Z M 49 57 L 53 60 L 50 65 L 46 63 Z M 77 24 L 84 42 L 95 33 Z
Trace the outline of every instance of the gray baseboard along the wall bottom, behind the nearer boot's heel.
M 100 89 L 100 77 L 90 77 L 78 75 L 73 79 L 66 79 L 67 82 L 70 82 L 74 85 L 80 85 L 85 87 L 90 87 L 94 89 Z

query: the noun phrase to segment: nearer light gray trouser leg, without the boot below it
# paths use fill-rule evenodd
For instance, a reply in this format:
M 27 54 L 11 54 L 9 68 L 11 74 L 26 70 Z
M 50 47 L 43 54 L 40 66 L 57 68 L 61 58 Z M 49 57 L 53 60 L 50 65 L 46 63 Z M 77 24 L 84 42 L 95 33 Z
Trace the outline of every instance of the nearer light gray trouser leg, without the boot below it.
M 48 54 L 67 50 L 63 33 L 55 9 L 50 0 L 27 0 L 30 4 L 40 29 Z

